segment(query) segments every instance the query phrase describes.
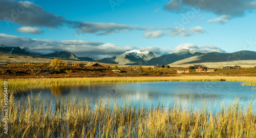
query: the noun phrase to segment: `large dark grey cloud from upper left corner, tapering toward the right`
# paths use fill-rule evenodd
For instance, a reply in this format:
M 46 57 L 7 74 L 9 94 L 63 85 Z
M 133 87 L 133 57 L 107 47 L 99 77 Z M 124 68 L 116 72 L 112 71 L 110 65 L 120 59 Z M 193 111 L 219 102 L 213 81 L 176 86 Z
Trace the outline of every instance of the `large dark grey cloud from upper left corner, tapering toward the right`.
M 24 9 L 22 14 L 13 9 Z M 45 8 L 32 4 L 29 1 L 0 0 L 0 21 L 14 22 L 22 26 L 43 26 L 49 29 L 57 29 L 61 26 L 68 26 L 76 30 L 76 33 L 91 33 L 95 35 L 109 35 L 114 33 L 125 33 L 132 30 L 166 30 L 172 27 L 140 27 L 139 25 L 105 23 L 105 22 L 82 22 L 67 20 L 63 16 L 47 12 Z M 42 33 L 41 31 L 31 31 L 24 28 L 19 32 Z

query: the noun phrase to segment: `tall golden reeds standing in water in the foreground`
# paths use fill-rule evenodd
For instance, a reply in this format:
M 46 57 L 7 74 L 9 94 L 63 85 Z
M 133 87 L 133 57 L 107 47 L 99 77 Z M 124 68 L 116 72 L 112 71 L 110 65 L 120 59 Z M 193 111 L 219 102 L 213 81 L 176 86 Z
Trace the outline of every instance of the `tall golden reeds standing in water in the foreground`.
M 3 94 L 1 94 L 3 97 Z M 3 98 L 1 98 L 3 102 Z M 256 116 L 252 101 L 247 107 L 235 100 L 220 112 L 206 108 L 186 109 L 173 104 L 145 105 L 109 103 L 100 100 L 92 108 L 88 100 L 24 103 L 9 99 L 9 135 L 13 137 L 254 137 Z M 3 105 L 0 104 L 0 108 Z M 1 110 L 2 114 L 3 111 Z M 3 118 L 2 118 L 3 122 Z M 3 124 L 3 123 L 2 123 Z M 3 130 L 3 125 L 1 125 Z M 3 137 L 4 133 L 0 134 Z

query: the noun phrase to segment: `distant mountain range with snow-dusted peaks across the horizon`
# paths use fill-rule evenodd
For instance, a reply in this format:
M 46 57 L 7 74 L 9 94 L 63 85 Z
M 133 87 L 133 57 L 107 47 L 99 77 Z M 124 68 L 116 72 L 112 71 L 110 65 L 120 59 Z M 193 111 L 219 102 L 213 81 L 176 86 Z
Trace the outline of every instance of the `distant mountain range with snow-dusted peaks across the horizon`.
M 159 56 L 152 51 L 131 50 L 126 51 L 119 56 L 111 58 L 103 58 L 93 60 L 89 57 L 77 57 L 75 54 L 68 51 L 55 50 L 33 50 L 28 47 L 9 47 L 0 46 L 0 52 L 26 54 L 30 56 L 65 58 L 80 61 L 97 61 L 108 64 L 121 65 L 168 65 L 168 64 L 196 64 L 196 63 L 217 63 L 217 62 L 231 62 L 231 61 L 245 61 L 256 60 L 256 52 L 254 51 L 237 51 L 233 53 L 219 53 L 219 52 L 201 52 L 190 48 L 180 48 L 172 53 Z

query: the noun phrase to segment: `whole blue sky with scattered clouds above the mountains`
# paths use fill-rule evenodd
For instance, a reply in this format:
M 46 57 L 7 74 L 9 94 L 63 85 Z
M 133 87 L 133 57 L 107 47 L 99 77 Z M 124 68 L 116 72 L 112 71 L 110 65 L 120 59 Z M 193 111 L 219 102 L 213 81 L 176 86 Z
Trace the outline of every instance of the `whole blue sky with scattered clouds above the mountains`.
M 254 0 L 0 0 L 0 44 L 112 57 L 256 51 Z

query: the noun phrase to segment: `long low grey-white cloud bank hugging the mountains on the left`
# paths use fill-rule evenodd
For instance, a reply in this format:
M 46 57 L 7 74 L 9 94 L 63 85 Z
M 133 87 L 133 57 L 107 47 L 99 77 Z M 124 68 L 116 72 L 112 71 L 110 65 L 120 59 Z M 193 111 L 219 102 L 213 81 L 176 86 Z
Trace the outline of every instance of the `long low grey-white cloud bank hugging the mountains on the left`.
M 0 43 L 5 46 L 29 47 L 35 50 L 66 50 L 80 57 L 102 58 L 111 57 L 137 49 L 134 46 L 118 46 L 111 43 L 91 42 L 83 40 L 38 40 L 28 37 L 19 37 L 0 34 Z

